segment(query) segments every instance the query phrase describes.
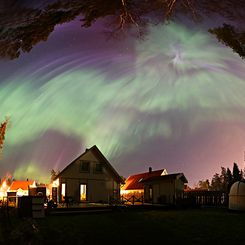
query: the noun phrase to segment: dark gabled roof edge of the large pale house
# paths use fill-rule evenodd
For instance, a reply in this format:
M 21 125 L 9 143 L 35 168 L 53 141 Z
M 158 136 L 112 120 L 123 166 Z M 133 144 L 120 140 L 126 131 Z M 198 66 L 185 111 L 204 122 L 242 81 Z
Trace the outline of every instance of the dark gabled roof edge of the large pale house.
M 120 183 L 123 182 L 122 177 L 117 173 L 117 171 L 112 167 L 112 165 L 109 163 L 109 161 L 105 158 L 105 156 L 101 153 L 101 151 L 99 150 L 99 148 L 94 145 L 89 149 L 86 149 L 86 151 L 84 153 L 82 153 L 80 156 L 78 156 L 76 159 L 74 159 L 69 165 L 67 165 L 57 176 L 55 179 L 57 179 L 60 175 L 62 175 L 62 173 L 69 168 L 73 163 L 75 163 L 80 157 L 84 156 L 85 154 L 87 154 L 89 151 L 92 151 L 94 155 L 96 155 L 98 158 L 102 159 L 102 161 L 106 164 L 106 166 L 108 167 L 108 169 L 113 173 L 113 175 L 115 176 L 116 180 Z

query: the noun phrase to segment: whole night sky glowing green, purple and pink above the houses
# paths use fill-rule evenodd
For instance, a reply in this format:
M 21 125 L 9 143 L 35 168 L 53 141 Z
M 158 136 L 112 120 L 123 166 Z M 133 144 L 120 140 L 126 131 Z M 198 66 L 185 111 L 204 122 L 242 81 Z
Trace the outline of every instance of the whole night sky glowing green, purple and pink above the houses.
M 108 40 L 102 23 L 57 26 L 18 60 L 0 61 L 0 173 L 47 181 L 96 144 L 129 174 L 166 168 L 190 184 L 245 150 L 245 63 L 201 28 L 149 26 Z

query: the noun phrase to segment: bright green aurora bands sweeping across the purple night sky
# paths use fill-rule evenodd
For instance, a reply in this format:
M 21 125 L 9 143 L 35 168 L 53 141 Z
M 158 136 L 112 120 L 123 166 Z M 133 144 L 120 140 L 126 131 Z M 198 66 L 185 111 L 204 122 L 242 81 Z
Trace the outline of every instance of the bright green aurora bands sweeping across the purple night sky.
M 50 129 L 75 135 L 86 147 L 96 144 L 117 160 L 155 138 L 174 144 L 207 123 L 244 123 L 245 64 L 208 32 L 174 23 L 151 26 L 133 50 L 117 56 L 61 52 L 48 62 L 43 55 L 38 69 L 29 64 L 1 81 L 1 120 L 11 120 L 4 157 Z M 124 75 L 110 76 L 114 69 Z M 43 169 L 29 157 L 9 164 L 5 169 L 14 169 L 15 178 L 42 179 L 40 172 L 67 163 Z

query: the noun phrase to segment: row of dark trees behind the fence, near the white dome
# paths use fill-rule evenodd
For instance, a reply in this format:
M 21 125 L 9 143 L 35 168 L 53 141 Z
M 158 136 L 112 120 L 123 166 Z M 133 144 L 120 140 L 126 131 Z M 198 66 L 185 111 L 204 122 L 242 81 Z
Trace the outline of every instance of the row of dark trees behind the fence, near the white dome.
M 233 183 L 237 181 L 245 181 L 244 170 L 239 169 L 238 164 L 234 163 L 232 171 L 229 168 L 221 167 L 221 172 L 215 173 L 209 181 L 199 180 L 196 189 L 222 191 L 229 193 Z

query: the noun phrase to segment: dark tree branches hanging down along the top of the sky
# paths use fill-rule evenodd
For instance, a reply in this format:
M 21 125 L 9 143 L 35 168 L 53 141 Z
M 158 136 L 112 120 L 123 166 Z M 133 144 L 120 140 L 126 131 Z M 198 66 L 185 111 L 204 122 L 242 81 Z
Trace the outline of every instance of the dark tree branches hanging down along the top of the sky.
M 0 15 L 0 56 L 18 58 L 21 52 L 29 52 L 40 41 L 46 41 L 57 24 L 74 20 L 79 15 L 83 16 L 82 27 L 89 27 L 98 19 L 109 16 L 106 25 L 111 36 L 127 28 L 132 29 L 132 26 L 141 36 L 146 31 L 146 23 L 160 23 L 173 18 L 176 13 L 191 15 L 193 19 L 216 13 L 243 23 L 244 14 L 239 12 L 242 6 L 244 0 L 57 0 L 51 4 L 46 2 L 39 9 L 22 6 L 22 9 L 17 7 L 14 10 L 11 5 L 3 4 Z M 244 57 L 244 35 L 239 30 L 224 24 L 210 32 Z

